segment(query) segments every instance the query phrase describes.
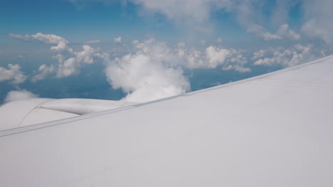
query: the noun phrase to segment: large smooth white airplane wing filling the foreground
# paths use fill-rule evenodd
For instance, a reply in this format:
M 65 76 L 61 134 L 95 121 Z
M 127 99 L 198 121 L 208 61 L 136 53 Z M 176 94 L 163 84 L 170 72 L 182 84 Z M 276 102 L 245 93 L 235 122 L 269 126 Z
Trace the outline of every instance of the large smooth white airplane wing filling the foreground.
M 333 56 L 0 131 L 1 186 L 333 186 Z M 14 116 L 13 116 L 14 118 Z

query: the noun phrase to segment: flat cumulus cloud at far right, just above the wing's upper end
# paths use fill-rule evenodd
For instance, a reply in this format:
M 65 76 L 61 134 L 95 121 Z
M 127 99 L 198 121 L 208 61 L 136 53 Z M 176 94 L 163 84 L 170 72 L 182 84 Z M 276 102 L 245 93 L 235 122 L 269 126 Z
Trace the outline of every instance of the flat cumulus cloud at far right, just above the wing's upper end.
M 273 66 L 280 65 L 282 67 L 292 67 L 297 64 L 310 62 L 319 57 L 323 57 L 321 51 L 313 49 L 312 45 L 294 45 L 287 49 L 279 47 L 277 49 L 266 50 L 265 53 L 270 53 L 270 57 L 263 57 L 254 62 L 255 65 Z

